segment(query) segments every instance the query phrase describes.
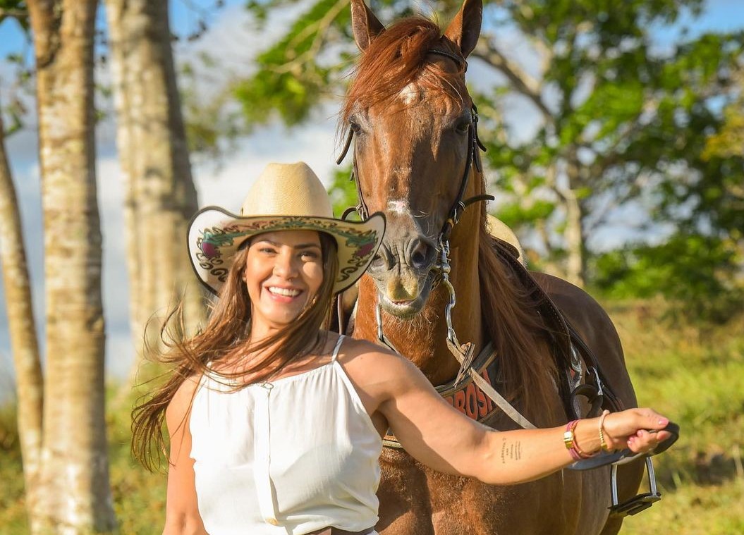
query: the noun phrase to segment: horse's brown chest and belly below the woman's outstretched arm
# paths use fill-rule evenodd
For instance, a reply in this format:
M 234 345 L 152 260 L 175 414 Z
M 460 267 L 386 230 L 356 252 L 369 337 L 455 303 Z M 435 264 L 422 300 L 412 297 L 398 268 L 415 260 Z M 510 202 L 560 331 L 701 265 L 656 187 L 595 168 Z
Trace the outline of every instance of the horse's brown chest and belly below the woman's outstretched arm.
M 580 481 L 557 473 L 499 487 L 446 475 L 385 448 L 380 458 L 381 535 L 565 535 L 582 533 Z M 574 472 L 567 478 L 577 478 Z M 594 531 L 596 533 L 597 531 Z

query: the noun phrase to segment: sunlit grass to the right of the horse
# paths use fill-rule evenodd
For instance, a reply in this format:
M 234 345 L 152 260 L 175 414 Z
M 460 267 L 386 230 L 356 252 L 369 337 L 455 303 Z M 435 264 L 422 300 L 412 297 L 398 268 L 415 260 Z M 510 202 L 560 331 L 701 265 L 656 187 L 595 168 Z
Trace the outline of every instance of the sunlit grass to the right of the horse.
M 641 406 L 679 423 L 679 441 L 654 459 L 661 502 L 621 535 L 744 533 L 744 318 L 701 330 L 664 324 L 644 306 L 612 307 Z M 663 528 L 661 528 L 663 527 Z

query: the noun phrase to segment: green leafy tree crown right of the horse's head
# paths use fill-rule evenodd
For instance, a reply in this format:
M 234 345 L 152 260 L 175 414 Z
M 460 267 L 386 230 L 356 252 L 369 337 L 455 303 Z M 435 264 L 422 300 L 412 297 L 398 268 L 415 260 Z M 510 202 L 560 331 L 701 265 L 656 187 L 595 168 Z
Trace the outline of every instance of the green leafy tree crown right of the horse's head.
M 623 205 L 643 205 L 653 214 L 666 204 L 668 220 L 683 203 L 669 193 L 680 175 L 701 185 L 725 176 L 702 154 L 708 135 L 722 129 L 722 105 L 737 94 L 732 73 L 742 35 L 683 38 L 665 50 L 653 37 L 686 10 L 701 9 L 698 0 L 635 0 L 619 10 L 596 1 L 502 5 L 499 28 L 518 31 L 545 68 L 537 77 L 518 64 L 501 68 L 510 90 L 497 87 L 478 97 L 485 103 L 481 138 L 490 141 L 494 185 L 506 194 L 498 217 L 523 234 L 542 230 L 532 235 L 543 253 L 564 246 L 571 196 L 579 199 L 583 233 L 590 235 Z M 492 65 L 508 61 L 496 35 L 479 56 Z M 511 126 L 514 118 L 507 121 L 515 92 L 541 115 L 526 141 Z M 731 158 L 726 164 L 737 165 Z M 729 176 L 736 182 L 743 173 Z

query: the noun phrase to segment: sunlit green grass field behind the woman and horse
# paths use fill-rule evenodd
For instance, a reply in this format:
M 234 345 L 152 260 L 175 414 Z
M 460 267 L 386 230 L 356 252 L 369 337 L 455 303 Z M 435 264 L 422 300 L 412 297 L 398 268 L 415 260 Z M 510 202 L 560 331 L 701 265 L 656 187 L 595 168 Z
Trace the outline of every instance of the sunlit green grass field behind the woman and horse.
M 650 304 L 609 311 L 623 339 L 641 405 L 682 426 L 655 458 L 661 502 L 623 525 L 623 535 L 744 534 L 744 318 L 699 330 L 670 325 Z M 129 458 L 129 410 L 109 414 L 111 481 L 124 535 L 159 534 L 164 475 Z M 0 409 L 0 535 L 28 533 L 14 409 Z

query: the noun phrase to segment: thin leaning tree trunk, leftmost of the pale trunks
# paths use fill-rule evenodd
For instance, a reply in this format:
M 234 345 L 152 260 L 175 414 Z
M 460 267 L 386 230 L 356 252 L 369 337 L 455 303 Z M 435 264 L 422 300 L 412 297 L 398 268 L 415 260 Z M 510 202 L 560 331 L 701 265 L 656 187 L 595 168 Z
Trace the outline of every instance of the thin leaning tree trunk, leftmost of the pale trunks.
M 18 433 L 23 459 L 26 505 L 31 521 L 31 504 L 36 496 L 42 448 L 44 380 L 39 360 L 39 343 L 33 321 L 31 282 L 23 246 L 21 217 L 16 189 L 10 176 L 0 117 L 0 266 L 5 289 L 10 351 L 16 368 Z

